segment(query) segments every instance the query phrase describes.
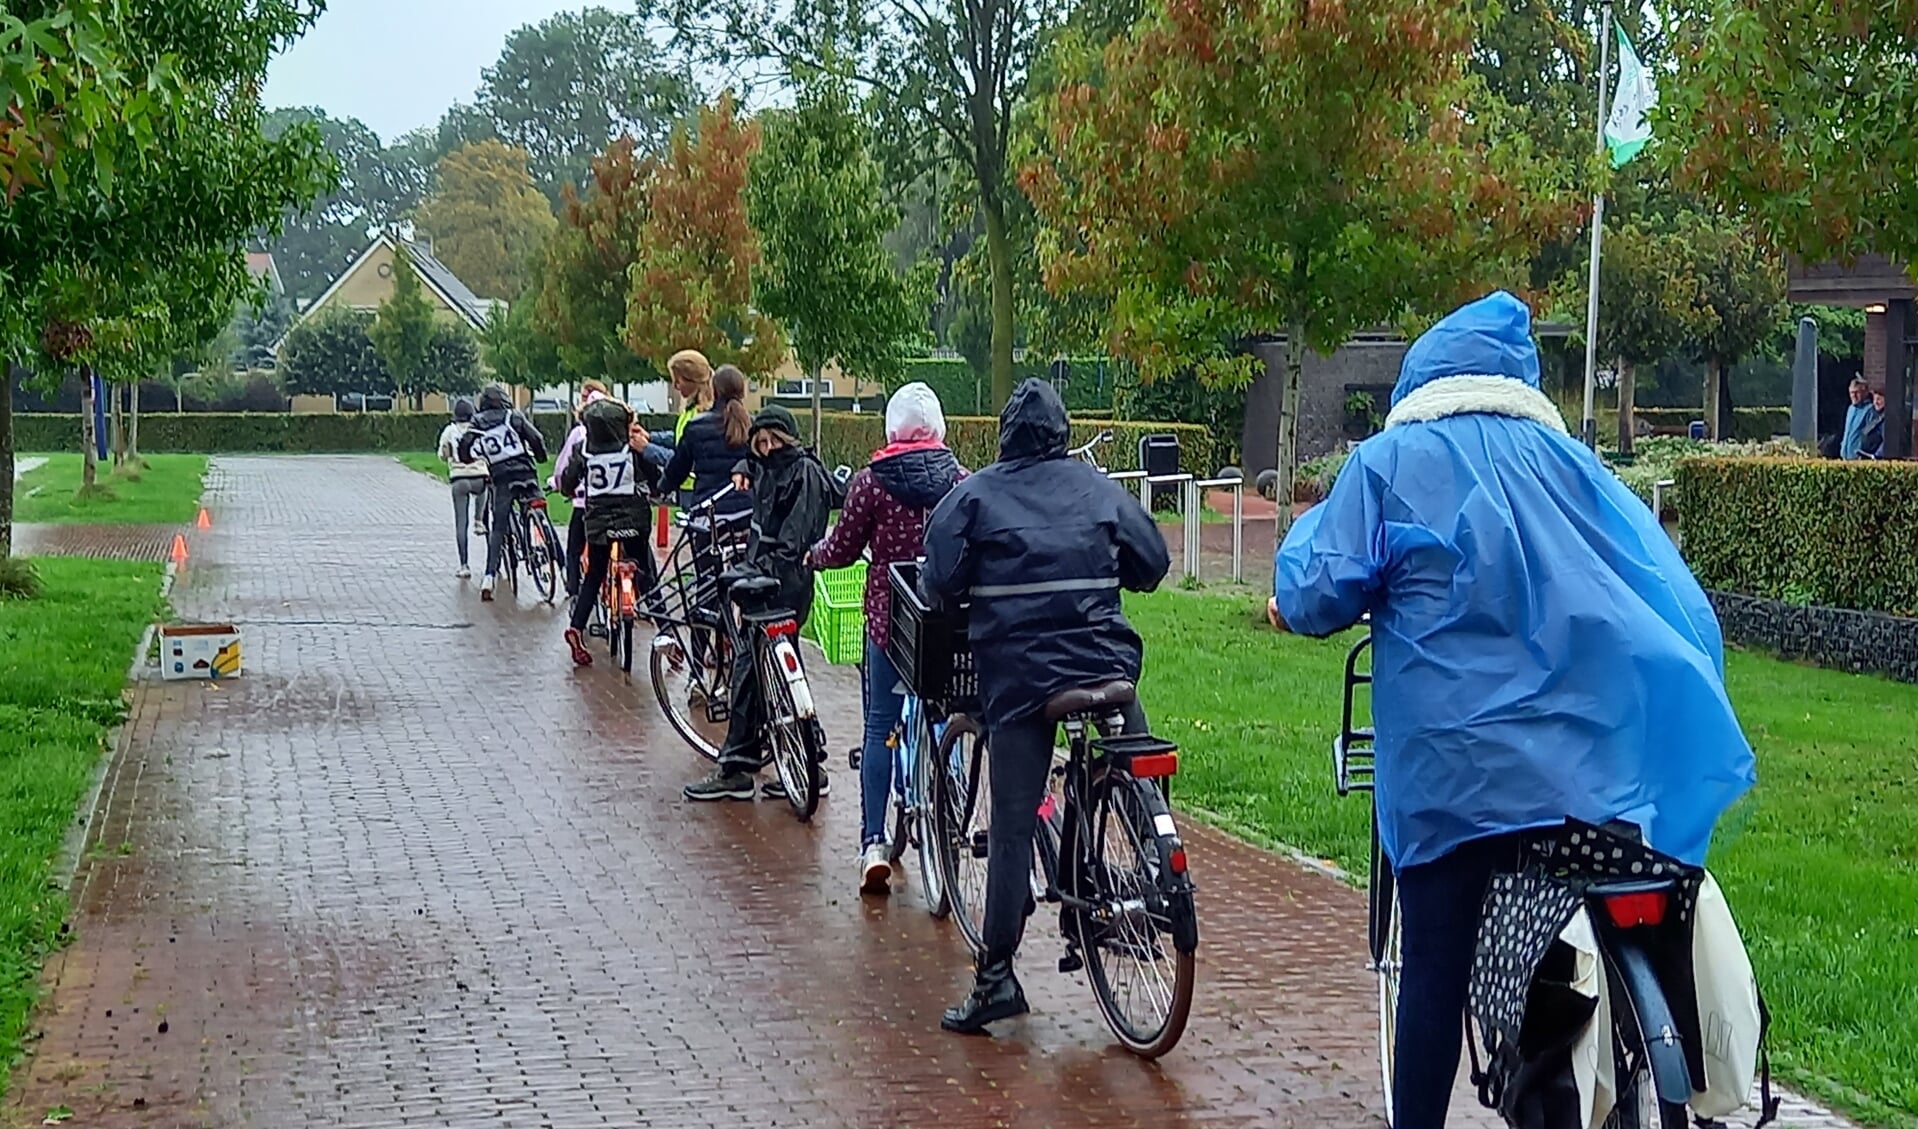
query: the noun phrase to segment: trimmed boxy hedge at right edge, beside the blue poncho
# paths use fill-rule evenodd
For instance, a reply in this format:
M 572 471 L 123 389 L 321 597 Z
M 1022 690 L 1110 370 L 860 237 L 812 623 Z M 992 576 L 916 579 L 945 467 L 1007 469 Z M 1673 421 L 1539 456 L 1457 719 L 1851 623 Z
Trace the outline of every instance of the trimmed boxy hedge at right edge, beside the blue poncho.
M 1678 464 L 1684 556 L 1707 588 L 1918 615 L 1918 464 Z

